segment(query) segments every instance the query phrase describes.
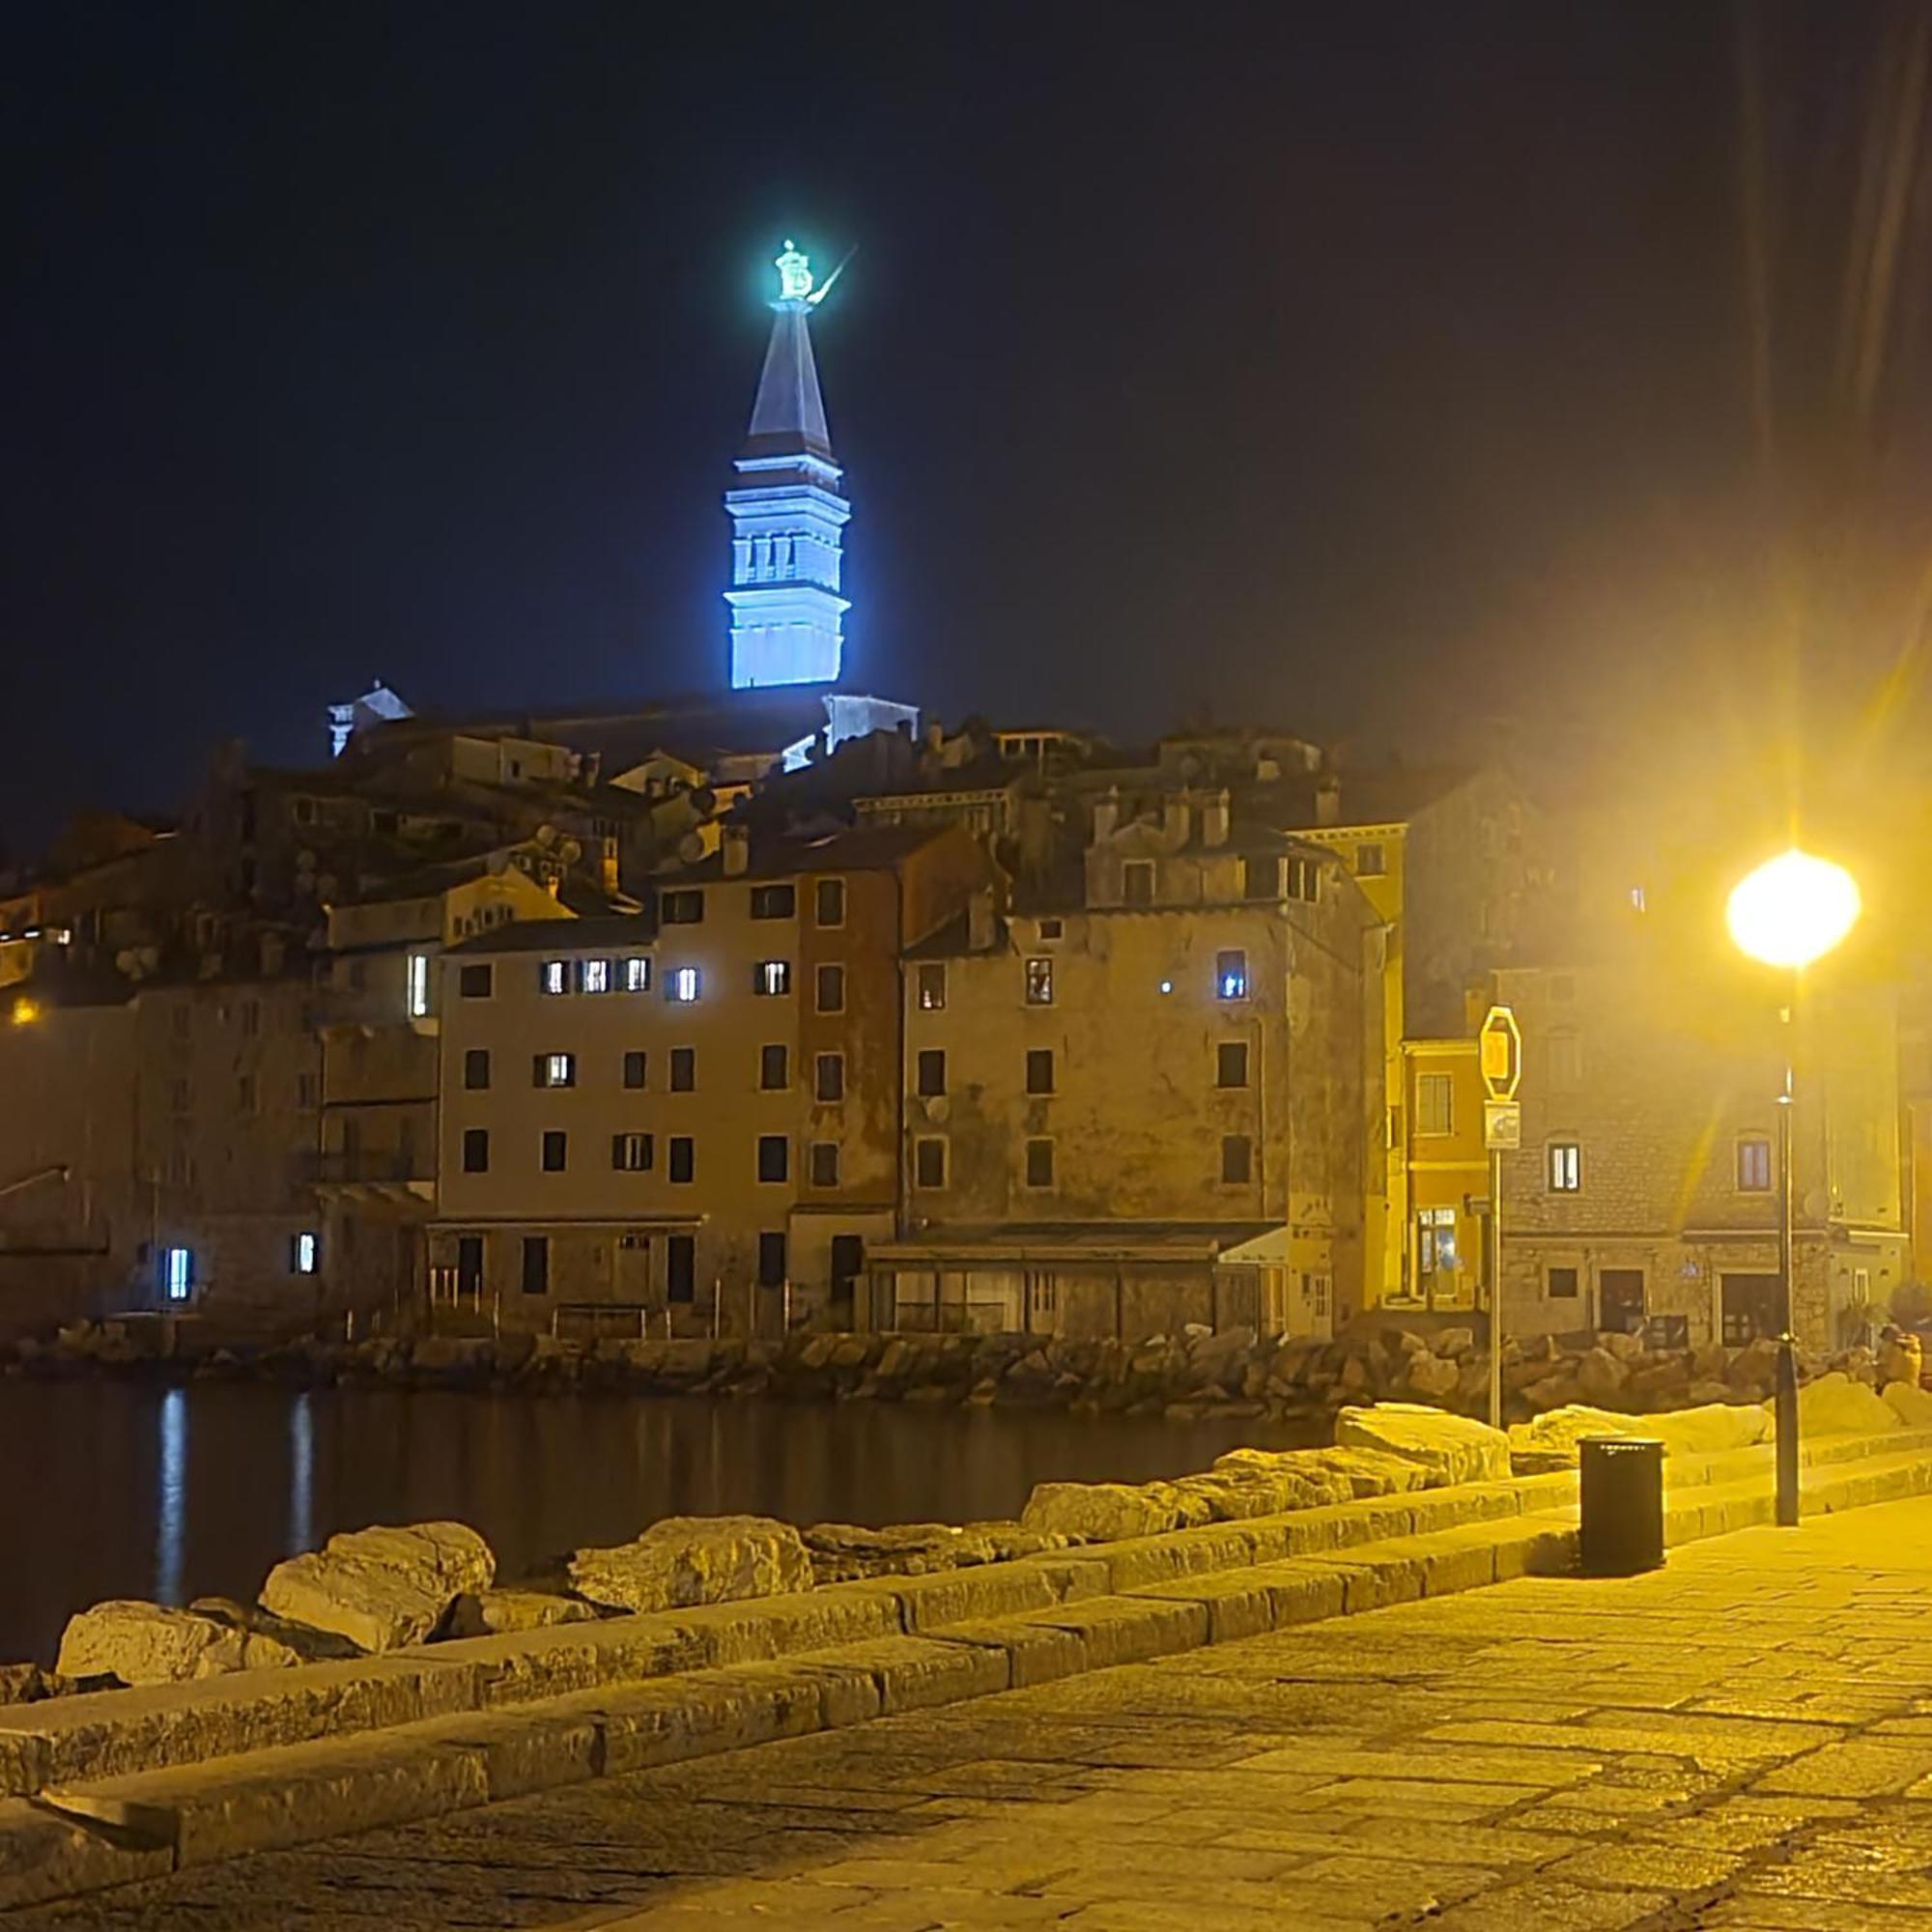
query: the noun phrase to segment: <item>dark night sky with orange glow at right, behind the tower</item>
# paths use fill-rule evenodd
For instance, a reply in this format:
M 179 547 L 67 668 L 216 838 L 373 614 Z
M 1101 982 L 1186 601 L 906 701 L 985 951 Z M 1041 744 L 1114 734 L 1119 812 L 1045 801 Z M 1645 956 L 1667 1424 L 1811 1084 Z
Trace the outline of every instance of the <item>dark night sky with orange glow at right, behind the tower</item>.
M 377 674 L 721 684 L 786 234 L 860 247 L 860 688 L 1414 755 L 1855 705 L 1924 647 L 1928 19 L 17 8 L 0 837 Z

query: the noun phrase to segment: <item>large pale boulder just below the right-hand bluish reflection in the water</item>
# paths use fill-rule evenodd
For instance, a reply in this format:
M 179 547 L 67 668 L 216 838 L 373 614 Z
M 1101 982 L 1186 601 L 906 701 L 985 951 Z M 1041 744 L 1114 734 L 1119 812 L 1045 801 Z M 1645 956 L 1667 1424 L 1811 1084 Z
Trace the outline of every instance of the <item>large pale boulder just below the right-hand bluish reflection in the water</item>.
M 489 1544 L 466 1522 L 344 1530 L 269 1571 L 263 1609 L 334 1631 L 363 1650 L 419 1644 L 466 1590 L 497 1580 Z

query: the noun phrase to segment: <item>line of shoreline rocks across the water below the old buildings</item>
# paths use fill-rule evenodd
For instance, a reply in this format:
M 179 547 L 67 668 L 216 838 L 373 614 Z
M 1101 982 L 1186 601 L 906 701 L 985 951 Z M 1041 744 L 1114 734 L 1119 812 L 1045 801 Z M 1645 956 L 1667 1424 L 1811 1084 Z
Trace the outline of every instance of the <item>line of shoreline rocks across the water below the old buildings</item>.
M 1777 1350 L 1646 1349 L 1634 1335 L 1542 1335 L 1503 1345 L 1503 1395 L 1526 1418 L 1584 1403 L 1667 1414 L 1772 1393 Z M 46 1343 L 0 1349 L 19 1376 L 164 1374 L 296 1387 L 487 1389 L 531 1395 L 707 1395 L 881 1401 L 935 1406 L 1051 1406 L 1080 1414 L 1287 1416 L 1416 1401 L 1461 1414 L 1488 1405 L 1476 1331 L 1430 1318 L 1368 1316 L 1333 1341 L 1184 1327 L 1126 1343 L 1065 1335 L 794 1333 L 784 1341 L 653 1337 L 576 1343 L 551 1335 L 375 1337 L 359 1343 L 220 1341 L 193 1321 L 73 1323 Z M 1812 1379 L 1878 1383 L 1870 1350 L 1801 1360 Z

